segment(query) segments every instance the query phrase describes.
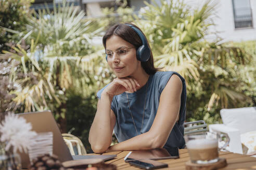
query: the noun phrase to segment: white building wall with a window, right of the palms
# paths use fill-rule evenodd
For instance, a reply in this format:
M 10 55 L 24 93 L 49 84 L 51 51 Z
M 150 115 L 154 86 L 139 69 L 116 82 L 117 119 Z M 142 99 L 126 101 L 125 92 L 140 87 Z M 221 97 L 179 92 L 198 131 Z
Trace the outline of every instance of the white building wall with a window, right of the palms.
M 191 7 L 198 7 L 203 1 L 184 0 Z M 215 0 L 214 26 L 223 42 L 256 40 L 256 1 L 255 0 Z M 209 37 L 213 39 L 215 37 Z

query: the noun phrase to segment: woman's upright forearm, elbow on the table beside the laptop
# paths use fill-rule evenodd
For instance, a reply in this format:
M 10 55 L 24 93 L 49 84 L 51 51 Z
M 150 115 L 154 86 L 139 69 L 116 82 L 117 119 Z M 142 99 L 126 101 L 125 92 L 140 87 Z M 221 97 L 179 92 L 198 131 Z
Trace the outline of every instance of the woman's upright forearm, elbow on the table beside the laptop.
M 93 151 L 97 153 L 107 150 L 112 141 L 111 102 L 111 96 L 105 93 L 101 94 L 97 112 L 89 132 L 89 143 Z

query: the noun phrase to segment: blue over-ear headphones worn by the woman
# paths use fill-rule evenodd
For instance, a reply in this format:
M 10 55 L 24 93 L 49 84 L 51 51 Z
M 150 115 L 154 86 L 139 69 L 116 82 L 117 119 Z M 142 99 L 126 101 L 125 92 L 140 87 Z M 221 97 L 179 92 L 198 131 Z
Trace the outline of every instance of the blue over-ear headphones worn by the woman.
M 137 50 L 136 50 L 136 56 L 137 56 L 137 60 L 138 61 L 142 61 L 142 62 L 146 62 L 149 60 L 150 58 L 150 49 L 148 47 L 147 44 L 147 39 L 144 36 L 144 34 L 137 29 L 135 26 L 130 25 L 130 24 L 125 24 L 130 26 L 139 36 L 139 38 L 142 40 L 142 46 L 140 46 Z M 108 61 L 108 55 L 106 54 L 106 60 Z

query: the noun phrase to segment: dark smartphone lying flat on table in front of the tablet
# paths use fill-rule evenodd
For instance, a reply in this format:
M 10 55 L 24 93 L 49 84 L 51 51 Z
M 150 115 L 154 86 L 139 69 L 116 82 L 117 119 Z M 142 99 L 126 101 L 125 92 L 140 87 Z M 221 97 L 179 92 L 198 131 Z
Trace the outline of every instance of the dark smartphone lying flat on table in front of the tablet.
M 129 164 L 143 169 L 158 169 L 162 167 L 168 167 L 168 164 L 154 160 L 134 160 L 130 161 Z

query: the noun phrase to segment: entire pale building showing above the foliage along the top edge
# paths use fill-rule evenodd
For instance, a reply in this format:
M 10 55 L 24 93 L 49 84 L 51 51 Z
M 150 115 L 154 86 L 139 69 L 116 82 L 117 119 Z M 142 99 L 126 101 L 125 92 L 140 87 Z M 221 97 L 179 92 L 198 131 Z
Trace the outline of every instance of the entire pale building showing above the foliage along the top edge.
M 55 3 L 61 1 L 55 0 Z M 145 7 L 144 1 L 127 0 L 127 6 L 133 7 L 135 12 L 138 12 L 140 8 Z M 146 1 L 152 3 L 151 0 Z M 198 8 L 203 1 L 205 0 L 184 0 L 184 3 L 189 4 L 192 8 Z M 49 8 L 53 7 L 53 0 L 35 0 L 31 7 L 41 9 L 44 2 L 48 4 Z M 67 2 L 80 6 L 90 17 L 100 17 L 102 15 L 101 8 L 118 7 L 115 0 L 67 0 Z M 155 2 L 160 3 L 160 0 L 155 0 Z M 221 37 L 224 42 L 256 40 L 256 0 L 213 0 L 213 3 L 215 2 L 217 3 L 216 16 L 212 18 L 215 25 L 211 27 L 210 31 L 217 32 L 217 36 Z M 209 36 L 210 40 L 215 38 Z

